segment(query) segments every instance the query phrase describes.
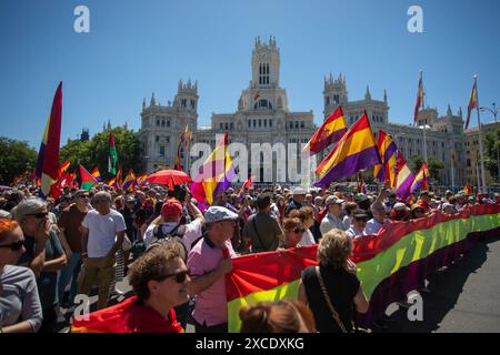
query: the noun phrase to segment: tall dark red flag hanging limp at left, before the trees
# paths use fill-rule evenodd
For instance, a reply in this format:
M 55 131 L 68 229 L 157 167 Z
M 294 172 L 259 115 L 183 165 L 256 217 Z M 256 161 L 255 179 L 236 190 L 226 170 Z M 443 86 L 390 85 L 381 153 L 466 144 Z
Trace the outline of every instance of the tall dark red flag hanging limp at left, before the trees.
M 40 179 L 41 192 L 48 196 L 50 186 L 59 179 L 59 145 L 62 120 L 62 82 L 56 91 L 38 153 L 36 175 Z

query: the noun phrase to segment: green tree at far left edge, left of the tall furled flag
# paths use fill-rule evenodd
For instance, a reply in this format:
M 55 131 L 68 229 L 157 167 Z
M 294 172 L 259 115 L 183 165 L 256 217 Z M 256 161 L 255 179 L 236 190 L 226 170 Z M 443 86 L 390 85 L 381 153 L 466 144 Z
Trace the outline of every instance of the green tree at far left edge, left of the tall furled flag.
M 0 183 L 9 185 L 13 180 L 37 165 L 38 153 L 28 142 L 0 136 Z

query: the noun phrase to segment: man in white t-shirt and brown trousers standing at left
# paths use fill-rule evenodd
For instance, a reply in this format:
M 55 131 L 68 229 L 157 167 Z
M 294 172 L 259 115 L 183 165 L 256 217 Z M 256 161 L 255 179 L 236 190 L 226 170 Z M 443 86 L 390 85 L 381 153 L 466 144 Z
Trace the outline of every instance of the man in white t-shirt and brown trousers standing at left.
M 111 195 L 100 191 L 93 196 L 96 210 L 87 213 L 82 222 L 82 268 L 78 280 L 79 293 L 90 294 L 99 284 L 98 310 L 108 304 L 110 285 L 116 275 L 114 254 L 123 243 L 127 230 L 121 213 L 111 210 Z

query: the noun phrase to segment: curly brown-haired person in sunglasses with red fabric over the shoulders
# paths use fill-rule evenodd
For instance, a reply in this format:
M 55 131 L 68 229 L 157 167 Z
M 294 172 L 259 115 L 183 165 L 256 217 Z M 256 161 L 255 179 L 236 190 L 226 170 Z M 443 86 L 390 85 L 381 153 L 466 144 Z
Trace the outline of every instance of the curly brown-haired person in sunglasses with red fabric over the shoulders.
M 186 251 L 177 241 L 156 242 L 129 270 L 136 296 L 73 321 L 72 333 L 183 333 L 174 306 L 189 301 Z

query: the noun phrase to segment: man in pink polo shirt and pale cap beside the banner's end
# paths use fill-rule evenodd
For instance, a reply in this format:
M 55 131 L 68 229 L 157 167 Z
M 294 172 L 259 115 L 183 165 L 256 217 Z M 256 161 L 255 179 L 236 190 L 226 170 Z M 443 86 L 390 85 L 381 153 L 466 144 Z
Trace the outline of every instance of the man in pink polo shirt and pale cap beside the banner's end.
M 207 233 L 188 255 L 192 275 L 190 293 L 197 295 L 192 317 L 197 333 L 227 333 L 224 275 L 231 272 L 231 257 L 237 255 L 230 240 L 238 214 L 226 207 L 211 206 L 204 219 Z

